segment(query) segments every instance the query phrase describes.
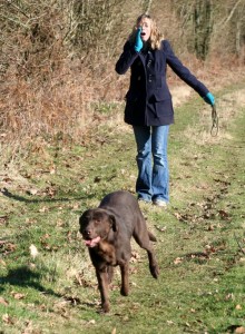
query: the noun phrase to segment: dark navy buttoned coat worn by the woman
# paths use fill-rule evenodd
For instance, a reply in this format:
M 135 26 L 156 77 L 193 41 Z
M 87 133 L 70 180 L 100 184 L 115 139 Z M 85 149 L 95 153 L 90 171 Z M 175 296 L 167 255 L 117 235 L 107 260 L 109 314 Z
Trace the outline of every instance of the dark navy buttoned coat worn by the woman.
M 166 81 L 167 65 L 174 72 L 205 97 L 208 89 L 180 62 L 167 40 L 160 50 L 136 52 L 134 45 L 125 43 L 116 63 L 116 71 L 124 75 L 131 69 L 130 86 L 126 95 L 125 121 L 136 126 L 161 126 L 174 122 L 171 95 Z

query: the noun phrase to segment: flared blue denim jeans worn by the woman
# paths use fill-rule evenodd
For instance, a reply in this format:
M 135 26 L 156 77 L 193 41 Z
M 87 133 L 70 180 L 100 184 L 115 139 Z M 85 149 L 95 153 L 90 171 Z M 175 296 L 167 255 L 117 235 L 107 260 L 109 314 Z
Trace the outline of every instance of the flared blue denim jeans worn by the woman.
M 133 126 L 138 165 L 136 193 L 146 202 L 169 202 L 167 141 L 169 126 Z

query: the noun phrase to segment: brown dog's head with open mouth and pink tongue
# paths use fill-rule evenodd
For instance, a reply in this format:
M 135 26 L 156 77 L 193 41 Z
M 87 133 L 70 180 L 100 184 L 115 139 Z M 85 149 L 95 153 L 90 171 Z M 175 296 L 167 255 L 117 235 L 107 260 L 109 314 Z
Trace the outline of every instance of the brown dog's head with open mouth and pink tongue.
M 117 229 L 115 216 L 100 208 L 86 210 L 79 218 L 79 225 L 88 247 L 95 247 L 100 240 L 108 238 L 111 229 Z

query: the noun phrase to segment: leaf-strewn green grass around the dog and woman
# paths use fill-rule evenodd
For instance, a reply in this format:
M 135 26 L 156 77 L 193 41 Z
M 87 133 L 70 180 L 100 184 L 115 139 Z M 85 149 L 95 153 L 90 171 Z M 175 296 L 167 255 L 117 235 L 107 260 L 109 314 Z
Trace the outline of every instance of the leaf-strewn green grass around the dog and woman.
M 245 327 L 243 86 L 218 92 L 218 137 L 199 100 L 176 109 L 169 136 L 171 205 L 143 205 L 161 269 L 150 277 L 135 243 L 130 295 L 100 315 L 94 268 L 78 217 L 107 193 L 134 191 L 135 143 L 118 109 L 82 146 L 30 151 L 2 178 L 0 197 L 1 333 L 235 333 Z M 225 109 L 233 118 L 223 114 Z M 99 108 L 98 106 L 96 108 Z M 202 111 L 202 112 L 200 112 Z M 13 167 L 12 167 L 13 168 Z M 14 173 L 13 173 L 14 171 Z M 30 246 L 38 255 L 30 254 Z M 238 333 L 238 332 L 237 332 Z M 239 332 L 241 333 L 241 332 Z

